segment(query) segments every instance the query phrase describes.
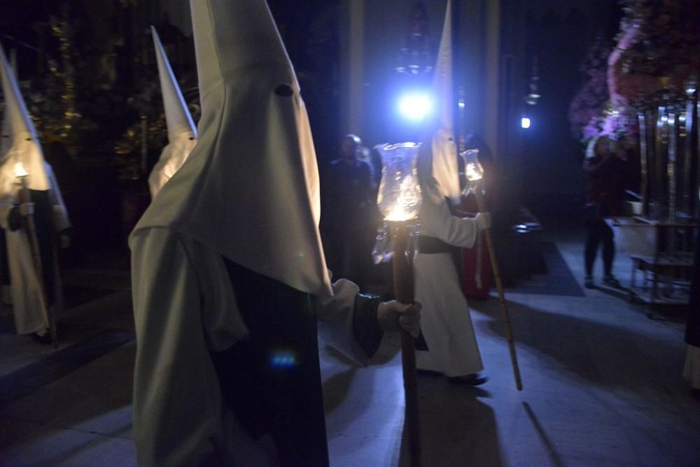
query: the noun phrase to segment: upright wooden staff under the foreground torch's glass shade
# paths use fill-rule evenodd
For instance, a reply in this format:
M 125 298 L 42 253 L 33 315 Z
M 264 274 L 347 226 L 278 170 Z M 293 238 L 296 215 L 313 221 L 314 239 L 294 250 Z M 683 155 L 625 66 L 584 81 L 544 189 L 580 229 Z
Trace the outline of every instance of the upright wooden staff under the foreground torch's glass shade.
M 414 302 L 413 265 L 405 255 L 410 227 L 406 222 L 393 222 L 393 286 L 398 302 L 410 305 Z M 401 365 L 403 388 L 406 398 L 406 426 L 411 454 L 411 465 L 421 465 L 421 433 L 418 417 L 418 393 L 416 392 L 416 348 L 414 337 L 401 330 Z

